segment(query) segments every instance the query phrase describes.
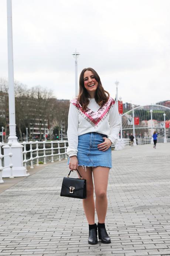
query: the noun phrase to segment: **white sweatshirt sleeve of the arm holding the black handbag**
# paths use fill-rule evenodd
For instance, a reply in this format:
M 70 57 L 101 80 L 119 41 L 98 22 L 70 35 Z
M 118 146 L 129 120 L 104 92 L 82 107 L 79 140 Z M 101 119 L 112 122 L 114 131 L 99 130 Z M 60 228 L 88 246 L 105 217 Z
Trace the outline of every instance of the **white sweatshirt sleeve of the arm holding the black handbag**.
M 77 155 L 78 147 L 78 111 L 76 107 L 70 103 L 69 112 L 68 112 L 68 148 L 67 154 L 69 157 Z

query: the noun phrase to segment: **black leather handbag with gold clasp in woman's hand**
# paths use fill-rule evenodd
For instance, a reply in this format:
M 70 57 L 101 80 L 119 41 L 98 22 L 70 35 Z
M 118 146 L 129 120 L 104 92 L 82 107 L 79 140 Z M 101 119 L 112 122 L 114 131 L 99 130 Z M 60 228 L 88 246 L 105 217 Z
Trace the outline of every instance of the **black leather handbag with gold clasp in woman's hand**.
M 77 169 L 76 171 L 78 171 L 80 178 L 70 178 L 71 171 L 67 177 L 63 178 L 60 196 L 80 199 L 86 198 L 86 180 L 83 179 Z

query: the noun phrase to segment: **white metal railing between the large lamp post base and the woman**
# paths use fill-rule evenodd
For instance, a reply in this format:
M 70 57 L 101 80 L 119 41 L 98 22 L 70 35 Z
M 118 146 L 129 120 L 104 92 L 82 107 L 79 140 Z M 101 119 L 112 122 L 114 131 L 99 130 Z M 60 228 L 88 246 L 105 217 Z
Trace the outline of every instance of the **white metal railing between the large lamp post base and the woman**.
M 34 168 L 33 162 L 37 166 L 39 165 L 40 158 L 43 158 L 44 164 L 46 164 L 47 158 L 51 158 L 51 163 L 54 163 L 55 156 L 57 156 L 58 161 L 61 161 L 61 157 L 67 159 L 66 144 L 68 144 L 68 141 L 24 141 L 21 144 L 24 145 L 23 163 L 27 167 L 27 163 L 30 162 L 31 169 Z

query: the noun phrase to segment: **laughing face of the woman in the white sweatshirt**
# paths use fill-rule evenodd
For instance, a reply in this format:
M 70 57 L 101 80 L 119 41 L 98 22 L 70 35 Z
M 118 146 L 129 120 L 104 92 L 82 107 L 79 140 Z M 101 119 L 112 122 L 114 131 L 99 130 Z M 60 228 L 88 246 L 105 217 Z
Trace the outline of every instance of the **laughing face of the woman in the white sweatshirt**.
M 88 91 L 90 96 L 95 95 L 95 91 L 98 88 L 98 82 L 95 79 L 95 76 L 90 70 L 84 72 L 84 87 Z

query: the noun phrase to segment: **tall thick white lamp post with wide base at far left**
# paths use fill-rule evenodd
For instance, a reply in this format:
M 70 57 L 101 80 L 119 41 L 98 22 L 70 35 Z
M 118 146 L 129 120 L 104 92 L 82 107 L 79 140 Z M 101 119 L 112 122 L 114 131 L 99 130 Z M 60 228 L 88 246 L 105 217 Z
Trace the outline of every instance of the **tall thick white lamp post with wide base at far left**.
M 13 176 L 27 176 L 27 170 L 23 166 L 23 145 L 18 143 L 16 136 L 16 119 L 15 119 L 15 95 L 14 95 L 14 67 L 13 67 L 13 33 L 12 33 L 12 4 L 7 0 L 7 42 L 8 42 L 8 95 L 9 95 L 9 145 L 4 145 L 4 155 L 12 154 L 11 162 L 13 165 Z M 9 157 L 4 158 L 4 166 L 10 166 Z M 2 172 L 3 177 L 11 177 L 10 167 Z M 12 177 L 13 177 L 12 176 Z

